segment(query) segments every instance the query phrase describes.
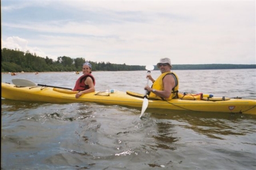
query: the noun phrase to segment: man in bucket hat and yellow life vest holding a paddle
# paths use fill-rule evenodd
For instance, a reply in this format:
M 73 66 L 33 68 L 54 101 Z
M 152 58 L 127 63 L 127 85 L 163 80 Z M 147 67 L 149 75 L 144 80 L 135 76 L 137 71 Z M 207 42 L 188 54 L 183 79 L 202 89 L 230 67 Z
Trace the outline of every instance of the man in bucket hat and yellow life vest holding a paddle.
M 151 75 L 147 75 L 147 78 L 153 83 L 152 87 L 146 86 L 144 88 L 144 90 L 149 92 L 148 97 L 162 100 L 177 98 L 179 79 L 171 71 L 172 65 L 170 58 L 161 58 L 157 66 L 162 74 L 156 80 Z

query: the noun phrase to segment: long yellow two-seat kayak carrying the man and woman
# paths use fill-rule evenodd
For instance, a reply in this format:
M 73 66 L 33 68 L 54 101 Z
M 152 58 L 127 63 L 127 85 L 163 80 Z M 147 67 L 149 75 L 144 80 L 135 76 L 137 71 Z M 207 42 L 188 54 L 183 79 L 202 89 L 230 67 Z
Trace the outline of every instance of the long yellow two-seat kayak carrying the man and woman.
M 109 105 L 125 105 L 129 107 L 142 108 L 143 96 L 135 92 L 96 91 L 84 94 L 76 99 L 77 91 L 55 88 L 55 87 L 19 87 L 14 84 L 2 83 L 2 97 L 20 101 L 42 101 L 47 103 L 80 103 L 94 102 Z M 183 94 L 180 94 L 183 95 Z M 198 96 L 198 95 L 195 95 Z M 203 97 L 202 97 L 203 96 Z M 256 100 L 253 99 L 229 99 L 225 97 L 205 97 L 200 98 L 180 97 L 172 100 L 148 99 L 147 108 L 203 111 L 203 112 L 227 112 L 256 114 Z

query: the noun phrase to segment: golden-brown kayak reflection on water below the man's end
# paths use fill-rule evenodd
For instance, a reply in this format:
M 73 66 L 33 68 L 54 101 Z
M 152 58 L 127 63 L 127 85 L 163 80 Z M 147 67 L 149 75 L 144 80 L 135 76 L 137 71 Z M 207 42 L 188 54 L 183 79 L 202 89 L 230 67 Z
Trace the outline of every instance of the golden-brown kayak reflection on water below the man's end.
M 164 120 L 176 120 L 183 128 L 191 129 L 209 138 L 222 139 L 221 135 L 245 135 L 255 132 L 256 116 L 240 113 L 168 111 L 160 113 L 150 110 L 150 117 Z M 159 110 L 157 111 L 159 112 Z M 250 120 L 251 119 L 251 120 Z M 249 121 L 249 124 L 246 122 Z M 246 125 L 245 125 L 246 124 Z M 243 128 L 243 126 L 246 126 Z

